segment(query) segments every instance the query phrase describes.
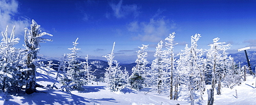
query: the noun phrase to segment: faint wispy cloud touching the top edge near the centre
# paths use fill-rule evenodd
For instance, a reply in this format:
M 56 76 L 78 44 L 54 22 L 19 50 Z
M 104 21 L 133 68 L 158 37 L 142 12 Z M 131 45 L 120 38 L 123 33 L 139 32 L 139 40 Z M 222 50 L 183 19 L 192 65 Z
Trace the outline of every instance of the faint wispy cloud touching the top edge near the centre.
M 110 3 L 110 7 L 113 10 L 113 14 L 116 18 L 122 18 L 128 15 L 137 17 L 139 15 L 139 7 L 137 5 L 122 5 L 122 0 L 118 4 Z M 107 18 L 109 15 L 106 15 Z

